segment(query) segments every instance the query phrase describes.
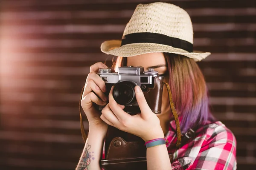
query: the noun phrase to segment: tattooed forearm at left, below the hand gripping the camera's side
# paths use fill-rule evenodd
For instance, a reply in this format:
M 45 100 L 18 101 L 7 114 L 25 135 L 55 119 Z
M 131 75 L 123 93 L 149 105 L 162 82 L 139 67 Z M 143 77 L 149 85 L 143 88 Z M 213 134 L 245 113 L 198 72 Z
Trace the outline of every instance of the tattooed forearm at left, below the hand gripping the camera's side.
M 94 128 L 89 131 L 76 170 L 101 170 L 99 161 L 101 159 L 105 134 L 106 133 L 102 132 L 99 128 Z

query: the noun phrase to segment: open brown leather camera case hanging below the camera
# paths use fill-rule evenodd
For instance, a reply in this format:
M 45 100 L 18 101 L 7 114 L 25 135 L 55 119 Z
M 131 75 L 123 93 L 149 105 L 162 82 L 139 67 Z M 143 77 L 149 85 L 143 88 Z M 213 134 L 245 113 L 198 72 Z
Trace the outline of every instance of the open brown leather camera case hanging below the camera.
M 110 138 L 112 140 L 107 144 L 109 142 L 107 139 Z M 102 167 L 105 170 L 147 170 L 144 144 L 145 142 L 138 136 L 123 132 L 115 127 L 109 127 L 105 142 L 105 159 L 101 160 Z M 172 162 L 173 154 L 169 155 L 169 158 Z

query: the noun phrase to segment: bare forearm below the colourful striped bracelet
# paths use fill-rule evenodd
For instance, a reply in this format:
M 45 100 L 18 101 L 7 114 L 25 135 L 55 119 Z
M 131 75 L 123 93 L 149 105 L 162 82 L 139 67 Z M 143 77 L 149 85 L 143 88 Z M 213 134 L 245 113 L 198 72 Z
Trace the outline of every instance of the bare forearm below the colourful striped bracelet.
M 148 170 L 172 170 L 165 144 L 147 148 Z

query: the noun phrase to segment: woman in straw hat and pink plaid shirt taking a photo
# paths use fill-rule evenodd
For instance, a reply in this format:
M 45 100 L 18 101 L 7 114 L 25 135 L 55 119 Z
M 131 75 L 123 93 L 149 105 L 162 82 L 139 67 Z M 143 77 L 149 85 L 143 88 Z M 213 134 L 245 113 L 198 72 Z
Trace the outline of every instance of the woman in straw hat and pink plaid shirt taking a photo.
M 96 73 L 107 66 L 99 62 L 90 67 L 81 100 L 90 130 L 78 170 L 100 170 L 99 160 L 108 125 L 139 136 L 145 142 L 168 140 L 167 144 L 147 147 L 148 170 L 236 169 L 236 139 L 210 113 L 206 83 L 196 64 L 210 53 L 195 52 L 192 48 L 193 30 L 189 15 L 169 3 L 138 5 L 122 41 L 102 43 L 101 50 L 106 54 L 122 56 L 117 58 L 114 68 L 140 65 L 145 69 L 154 68 L 165 77 L 179 115 L 181 133 L 186 135 L 194 129 L 195 138 L 179 149 L 173 147 L 177 141 L 176 127 L 166 88 L 163 89 L 162 113 L 151 111 L 139 86 L 134 90 L 141 113 L 131 116 L 124 112 L 124 106 L 113 99 L 113 88 L 109 96 L 105 96 L 105 83 Z M 107 105 L 99 113 L 93 102 Z M 172 164 L 169 153 L 174 153 Z

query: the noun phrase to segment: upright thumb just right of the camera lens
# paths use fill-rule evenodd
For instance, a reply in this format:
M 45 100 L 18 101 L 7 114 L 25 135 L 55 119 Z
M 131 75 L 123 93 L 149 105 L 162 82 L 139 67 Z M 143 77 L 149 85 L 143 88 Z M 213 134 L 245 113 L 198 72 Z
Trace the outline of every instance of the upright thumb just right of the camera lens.
M 140 86 L 136 85 L 134 90 L 135 90 L 136 100 L 137 100 L 138 105 L 140 107 L 141 113 L 143 114 L 143 113 L 152 112 L 151 108 L 149 108 L 149 106 L 148 106 L 148 103 L 145 99 L 143 91 L 140 89 Z

